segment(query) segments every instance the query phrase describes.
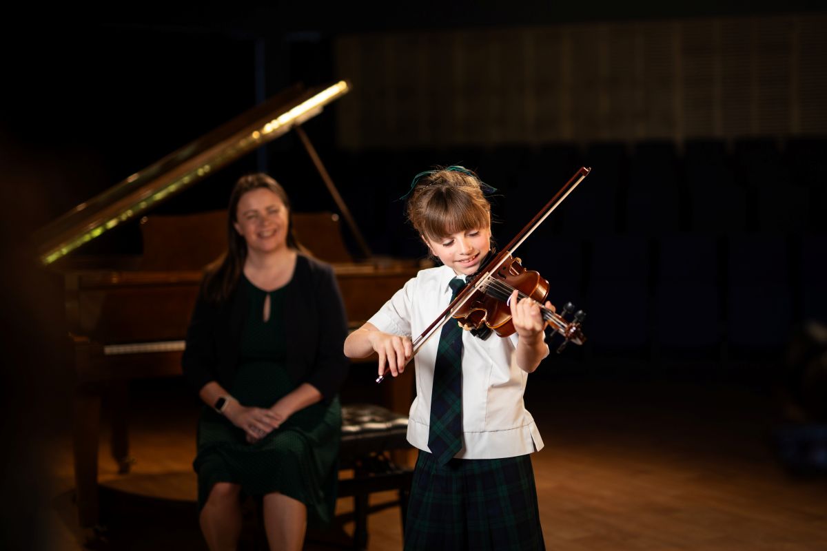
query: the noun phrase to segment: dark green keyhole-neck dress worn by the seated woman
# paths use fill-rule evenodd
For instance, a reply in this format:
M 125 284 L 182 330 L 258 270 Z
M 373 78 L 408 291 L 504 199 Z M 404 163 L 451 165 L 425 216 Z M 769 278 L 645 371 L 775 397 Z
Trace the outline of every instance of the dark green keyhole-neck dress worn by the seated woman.
M 240 365 L 229 388 L 244 406 L 270 407 L 299 386 L 290 380 L 284 362 L 284 297 L 292 282 L 265 292 L 242 276 L 251 297 L 241 334 Z M 263 321 L 265 297 L 270 295 L 270 319 Z M 310 330 L 308 328 L 308 330 Z M 244 431 L 212 408 L 204 406 L 198 424 L 198 507 L 204 506 L 216 482 L 234 482 L 250 496 L 280 492 L 304 503 L 308 523 L 326 525 L 336 504 L 337 457 L 342 428 L 338 397 L 320 401 L 293 416 L 256 444 Z

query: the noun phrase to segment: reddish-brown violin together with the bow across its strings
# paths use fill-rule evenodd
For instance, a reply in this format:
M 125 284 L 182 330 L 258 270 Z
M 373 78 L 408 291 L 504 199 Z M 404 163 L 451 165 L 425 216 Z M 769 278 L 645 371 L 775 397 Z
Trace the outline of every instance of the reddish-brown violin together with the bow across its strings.
M 574 319 L 567 321 L 565 316 L 574 311 L 571 302 L 563 306 L 562 314 L 557 314 L 553 308 L 543 306 L 548 295 L 548 281 L 543 279 L 538 272 L 523 268 L 522 260 L 514 258 L 514 252 L 534 230 L 546 221 L 547 217 L 574 191 L 583 178 L 589 175 L 590 171 L 588 167 L 581 167 L 577 170 L 574 176 L 546 203 L 546 206 L 523 227 L 523 230 L 520 230 L 499 254 L 480 268 L 471 282 L 457 294 L 442 314 L 437 316 L 437 319 L 428 325 L 422 335 L 414 340 L 411 358 L 414 358 L 423 344 L 452 318 L 457 319 L 463 329 L 472 332 L 483 330 L 482 332 L 485 333 L 488 332 L 485 328 L 488 328 L 501 337 L 512 335 L 515 329 L 511 322 L 511 308 L 508 302 L 514 289 L 518 291 L 517 296 L 520 299 L 529 297 L 538 302 L 543 320 L 553 330 L 563 335 L 564 341 L 557 348 L 557 353 L 562 352 L 569 342 L 574 344 L 586 342 L 586 337 L 581 330 L 586 313 L 577 311 Z M 376 382 L 383 380 L 385 376 L 380 375 Z

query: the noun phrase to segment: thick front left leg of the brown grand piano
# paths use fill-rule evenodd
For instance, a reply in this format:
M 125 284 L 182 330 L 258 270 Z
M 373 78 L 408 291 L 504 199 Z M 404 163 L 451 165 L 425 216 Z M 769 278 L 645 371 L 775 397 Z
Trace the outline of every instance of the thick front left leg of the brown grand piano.
M 101 395 L 94 385 L 79 385 L 74 391 L 74 492 L 81 528 L 98 524 L 98 436 Z

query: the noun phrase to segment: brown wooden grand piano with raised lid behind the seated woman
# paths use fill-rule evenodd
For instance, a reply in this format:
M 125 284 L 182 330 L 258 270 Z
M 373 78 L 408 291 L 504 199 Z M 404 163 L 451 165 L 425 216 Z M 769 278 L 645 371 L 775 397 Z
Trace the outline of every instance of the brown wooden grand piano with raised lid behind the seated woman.
M 75 207 L 36 236 L 41 264 L 65 283 L 65 315 L 74 385 L 74 473 L 79 524 L 98 524 L 98 439 L 101 400 L 114 395 L 112 456 L 122 473 L 131 464 L 127 437 L 127 382 L 179 376 L 181 352 L 203 267 L 226 245 L 226 211 L 153 216 L 152 207 L 191 188 L 210 173 L 288 131 L 304 148 L 339 212 L 294 213 L 299 240 L 333 264 L 349 322 L 361 325 L 423 265 L 370 254 L 308 136 L 301 127 L 347 93 L 347 81 L 285 90 L 208 135 L 132 174 Z M 340 234 L 344 219 L 359 252 L 348 252 Z M 84 244 L 124 224 L 141 224 L 143 254 L 89 258 Z M 321 231 L 316 231 L 321 230 Z M 354 258 L 354 256 L 356 258 Z M 372 373 L 372 370 L 370 371 Z M 366 378 L 370 378 L 366 370 Z M 385 406 L 407 413 L 412 386 L 390 386 Z M 119 406 L 119 407 L 118 407 Z

